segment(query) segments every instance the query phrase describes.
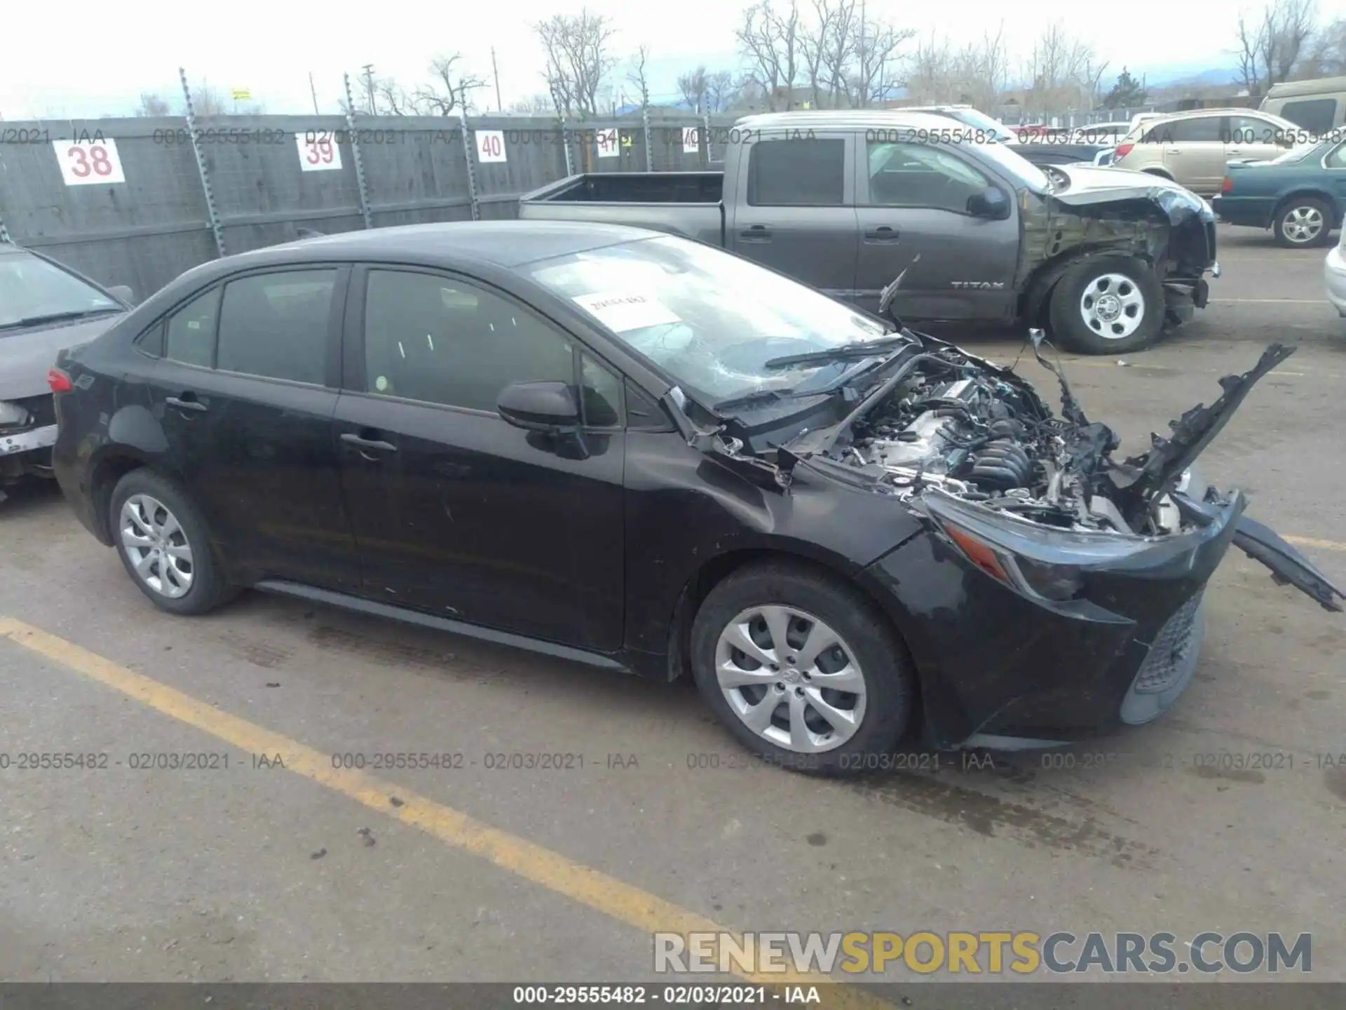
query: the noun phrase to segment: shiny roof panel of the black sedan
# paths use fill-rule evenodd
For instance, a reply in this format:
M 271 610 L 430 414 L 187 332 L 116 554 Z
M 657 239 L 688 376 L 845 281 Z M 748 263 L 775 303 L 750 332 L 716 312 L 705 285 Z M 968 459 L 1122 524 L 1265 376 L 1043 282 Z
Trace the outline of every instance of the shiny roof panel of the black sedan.
M 250 261 L 262 265 L 316 257 L 369 260 L 413 257 L 443 264 L 471 260 L 498 267 L 518 267 L 604 245 L 656 238 L 660 234 L 662 233 L 645 228 L 583 221 L 446 221 L 300 238 L 238 253 L 215 263 L 241 265 L 244 261 Z

